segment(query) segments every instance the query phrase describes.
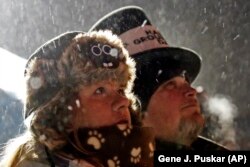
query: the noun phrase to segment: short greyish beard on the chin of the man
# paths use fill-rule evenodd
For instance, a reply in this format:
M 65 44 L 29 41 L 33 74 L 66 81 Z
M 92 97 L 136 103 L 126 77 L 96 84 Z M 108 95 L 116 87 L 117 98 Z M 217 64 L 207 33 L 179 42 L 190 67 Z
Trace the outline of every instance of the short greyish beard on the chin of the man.
M 202 129 L 203 127 L 193 120 L 181 119 L 176 140 L 180 144 L 190 146 Z

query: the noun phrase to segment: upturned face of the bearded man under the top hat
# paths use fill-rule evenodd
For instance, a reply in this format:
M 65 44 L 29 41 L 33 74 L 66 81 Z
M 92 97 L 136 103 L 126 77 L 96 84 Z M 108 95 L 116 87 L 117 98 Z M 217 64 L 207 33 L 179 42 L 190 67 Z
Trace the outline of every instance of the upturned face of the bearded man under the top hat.
M 156 137 L 190 145 L 204 124 L 196 90 L 181 76 L 164 82 L 152 95 L 144 123 Z

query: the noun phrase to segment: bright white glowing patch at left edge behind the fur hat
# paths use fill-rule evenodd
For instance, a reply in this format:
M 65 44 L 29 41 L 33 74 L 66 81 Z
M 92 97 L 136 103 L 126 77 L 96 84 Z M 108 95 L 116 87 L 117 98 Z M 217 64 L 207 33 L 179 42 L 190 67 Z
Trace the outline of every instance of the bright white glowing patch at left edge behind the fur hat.
M 24 68 L 27 60 L 0 48 L 0 89 L 16 98 L 24 97 Z

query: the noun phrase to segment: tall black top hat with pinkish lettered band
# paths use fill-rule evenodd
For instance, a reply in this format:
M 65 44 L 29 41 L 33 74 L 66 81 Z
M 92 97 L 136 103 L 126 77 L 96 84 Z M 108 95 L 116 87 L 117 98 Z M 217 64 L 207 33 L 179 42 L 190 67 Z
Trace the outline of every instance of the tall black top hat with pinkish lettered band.
M 117 9 L 101 18 L 90 31 L 100 29 L 109 29 L 119 35 L 136 61 L 134 92 L 141 100 L 143 110 L 163 82 L 185 73 L 191 83 L 200 71 L 199 55 L 186 48 L 168 46 L 140 7 Z

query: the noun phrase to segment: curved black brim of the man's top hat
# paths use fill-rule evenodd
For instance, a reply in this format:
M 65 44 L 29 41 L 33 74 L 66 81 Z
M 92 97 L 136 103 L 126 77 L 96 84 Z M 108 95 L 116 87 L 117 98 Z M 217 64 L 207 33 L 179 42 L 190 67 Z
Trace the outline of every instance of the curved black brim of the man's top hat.
M 141 75 L 150 75 L 148 71 L 179 70 L 185 71 L 188 81 L 192 83 L 201 67 L 201 58 L 194 51 L 180 47 L 148 50 L 133 58 L 136 61 L 138 79 Z M 165 78 L 168 79 L 170 78 Z

